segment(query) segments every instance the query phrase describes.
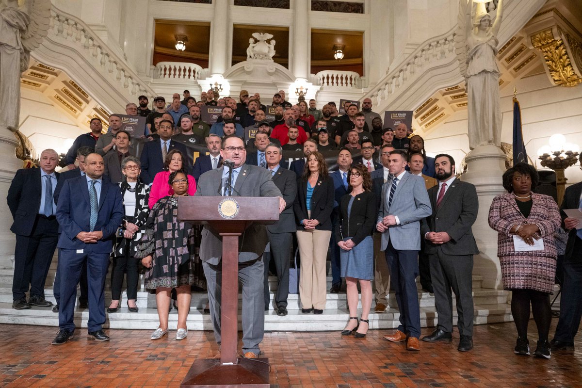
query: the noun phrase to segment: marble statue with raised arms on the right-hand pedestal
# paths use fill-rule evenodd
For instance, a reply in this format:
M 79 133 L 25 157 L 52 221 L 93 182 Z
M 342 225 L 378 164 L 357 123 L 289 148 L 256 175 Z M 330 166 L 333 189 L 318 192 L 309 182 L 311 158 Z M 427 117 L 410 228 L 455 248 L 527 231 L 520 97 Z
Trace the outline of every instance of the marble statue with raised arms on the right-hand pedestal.
M 501 144 L 500 73 L 495 55 L 502 14 L 503 0 L 497 3 L 495 21 L 487 13 L 484 3 L 475 4 L 473 0 L 459 2 L 455 46 L 459 68 L 466 81 L 471 149 L 487 144 L 499 147 Z

